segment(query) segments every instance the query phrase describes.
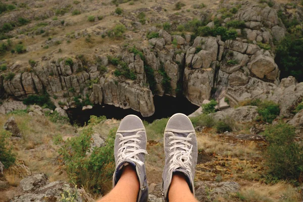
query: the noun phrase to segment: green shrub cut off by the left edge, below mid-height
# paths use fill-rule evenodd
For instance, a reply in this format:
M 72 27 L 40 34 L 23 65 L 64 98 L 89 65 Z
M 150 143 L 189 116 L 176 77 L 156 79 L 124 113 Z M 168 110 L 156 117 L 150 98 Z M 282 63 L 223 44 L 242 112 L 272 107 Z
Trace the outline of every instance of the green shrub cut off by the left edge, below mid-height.
M 7 130 L 0 130 L 0 162 L 4 168 L 9 168 L 15 163 L 16 155 L 12 152 L 10 145 L 10 137 L 12 133 Z

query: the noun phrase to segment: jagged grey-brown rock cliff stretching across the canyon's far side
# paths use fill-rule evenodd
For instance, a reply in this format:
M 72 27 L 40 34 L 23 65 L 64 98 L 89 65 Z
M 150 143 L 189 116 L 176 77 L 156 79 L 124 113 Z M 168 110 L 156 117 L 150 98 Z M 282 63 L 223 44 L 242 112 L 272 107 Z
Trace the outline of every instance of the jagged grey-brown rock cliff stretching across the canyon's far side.
M 281 105 L 281 115 L 291 117 L 293 106 L 303 96 L 301 84 L 279 85 L 280 71 L 274 62 L 274 53 L 258 45 L 262 42 L 270 46 L 274 39 L 284 37 L 285 27 L 277 15 L 277 9 L 281 8 L 241 4 L 233 19 L 226 18 L 222 23 L 224 26 L 231 20 L 244 21 L 244 28 L 237 30 L 235 40 L 223 41 L 221 36 L 191 39 L 189 34 L 170 35 L 163 29 L 150 27 L 148 32 L 158 32 L 159 37 L 136 47 L 141 55 L 126 49 L 120 49 L 120 53 L 115 50 L 113 57 L 126 63 L 136 76 L 134 81 L 115 76 L 114 70 L 122 67 L 109 63 L 106 56 L 112 55 L 110 53 L 96 55 L 88 61 L 76 56 L 44 57 L 32 71 L 23 73 L 19 70 L 24 67 L 17 61 L 10 67 L 15 72 L 11 80 L 0 77 L 0 87 L 3 86 L 0 90 L 4 89 L 7 95 L 21 100 L 31 94 L 46 92 L 59 98 L 54 100 L 57 107 L 57 102 L 65 103 L 64 109 L 75 107 L 74 97 L 81 97 L 81 100 L 89 99 L 93 104 L 131 108 L 143 116 L 154 114 L 155 94 L 176 96 L 182 91 L 191 103 L 198 106 L 205 99 L 224 96 L 232 106 L 245 99 L 267 98 Z M 224 6 L 230 7 L 229 4 Z M 214 17 L 220 19 L 220 15 L 215 13 Z M 121 23 L 128 21 L 121 20 Z M 214 27 L 214 22 L 208 26 Z M 108 71 L 104 73 L 100 66 Z M 153 92 L 149 89 L 148 68 L 155 80 Z M 5 109 L 0 108 L 0 111 Z

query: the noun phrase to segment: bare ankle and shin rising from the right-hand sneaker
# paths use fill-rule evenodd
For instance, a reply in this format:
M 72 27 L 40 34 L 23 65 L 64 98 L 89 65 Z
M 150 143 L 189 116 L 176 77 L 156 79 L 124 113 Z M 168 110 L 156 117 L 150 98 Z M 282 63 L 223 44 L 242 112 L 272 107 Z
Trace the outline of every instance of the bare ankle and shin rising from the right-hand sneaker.
M 182 173 L 173 174 L 172 182 L 170 184 L 168 198 L 171 202 L 198 202 L 192 195 L 189 186 Z

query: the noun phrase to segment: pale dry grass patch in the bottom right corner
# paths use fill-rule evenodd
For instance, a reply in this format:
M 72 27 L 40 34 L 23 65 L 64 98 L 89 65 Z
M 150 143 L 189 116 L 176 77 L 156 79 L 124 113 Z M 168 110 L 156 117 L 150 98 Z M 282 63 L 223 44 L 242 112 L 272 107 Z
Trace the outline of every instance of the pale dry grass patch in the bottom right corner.
M 244 186 L 238 193 L 238 197 L 244 201 L 291 201 L 299 202 L 300 196 L 291 185 L 279 182 L 274 185 L 255 183 Z

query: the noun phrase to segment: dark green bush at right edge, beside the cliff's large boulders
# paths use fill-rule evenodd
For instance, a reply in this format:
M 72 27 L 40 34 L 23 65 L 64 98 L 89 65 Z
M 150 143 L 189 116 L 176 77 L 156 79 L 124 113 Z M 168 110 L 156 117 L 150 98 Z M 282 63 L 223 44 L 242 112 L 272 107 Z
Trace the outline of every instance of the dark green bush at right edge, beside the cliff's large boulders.
M 303 81 L 303 39 L 287 35 L 276 48 L 275 62 L 281 74 L 280 79 L 293 76 L 298 82 Z

